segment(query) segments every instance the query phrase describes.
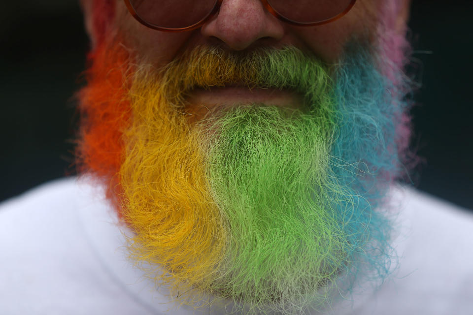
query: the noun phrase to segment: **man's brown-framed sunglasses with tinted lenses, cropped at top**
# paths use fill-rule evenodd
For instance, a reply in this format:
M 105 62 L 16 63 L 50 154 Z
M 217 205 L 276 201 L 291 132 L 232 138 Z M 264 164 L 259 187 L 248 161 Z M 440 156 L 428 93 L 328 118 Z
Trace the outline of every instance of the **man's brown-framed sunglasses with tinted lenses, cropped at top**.
M 203 26 L 223 0 L 125 0 L 141 24 L 158 31 L 183 32 Z M 345 15 L 356 0 L 261 0 L 276 18 L 295 26 L 316 26 Z

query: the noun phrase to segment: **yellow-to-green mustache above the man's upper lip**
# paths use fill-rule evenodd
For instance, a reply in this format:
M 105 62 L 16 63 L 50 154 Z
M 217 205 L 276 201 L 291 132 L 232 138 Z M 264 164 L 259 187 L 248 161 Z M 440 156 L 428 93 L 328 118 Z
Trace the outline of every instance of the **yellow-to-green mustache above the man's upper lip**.
M 313 53 L 293 46 L 235 52 L 220 46 L 198 46 L 156 71 L 143 65 L 136 71 L 141 82 L 161 82 L 161 95 L 179 104 L 194 89 L 243 86 L 275 88 L 303 95 L 326 95 L 332 84 L 330 66 Z M 144 78 L 143 78 L 144 77 Z M 144 80 L 143 80 L 144 79 Z

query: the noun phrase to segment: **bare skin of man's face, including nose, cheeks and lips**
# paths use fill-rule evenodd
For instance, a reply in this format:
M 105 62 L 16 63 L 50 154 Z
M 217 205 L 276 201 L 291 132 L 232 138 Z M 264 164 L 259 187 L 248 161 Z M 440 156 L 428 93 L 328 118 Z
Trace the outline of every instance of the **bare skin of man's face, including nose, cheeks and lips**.
M 126 45 L 157 67 L 174 60 L 183 51 L 197 46 L 221 45 L 231 51 L 251 51 L 267 47 L 280 49 L 292 46 L 311 51 L 322 61 L 336 62 L 346 43 L 354 37 L 376 41 L 382 1 L 358 0 L 341 19 L 318 27 L 296 27 L 278 20 L 259 0 L 226 0 L 216 16 L 202 28 L 191 32 L 157 32 L 137 22 L 128 12 L 124 1 L 117 2 L 118 28 Z M 314 4 L 314 10 L 317 10 Z M 189 95 L 190 104 L 200 104 L 207 110 L 216 105 L 236 103 L 266 103 L 298 107 L 300 95 L 278 89 L 227 87 L 204 91 L 196 89 Z M 194 105 L 190 105 L 194 106 Z M 202 111 L 192 108 L 191 111 Z

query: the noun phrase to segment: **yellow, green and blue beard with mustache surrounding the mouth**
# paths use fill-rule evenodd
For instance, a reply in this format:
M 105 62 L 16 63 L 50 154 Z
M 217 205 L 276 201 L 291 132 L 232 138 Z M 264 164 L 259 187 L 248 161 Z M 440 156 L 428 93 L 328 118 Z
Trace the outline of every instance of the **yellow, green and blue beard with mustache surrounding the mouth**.
M 132 256 L 171 300 L 298 314 L 388 274 L 381 206 L 406 104 L 374 63 L 363 49 L 330 68 L 295 48 L 198 48 L 138 67 L 118 199 Z M 304 109 L 247 104 L 189 123 L 190 90 L 234 83 L 296 91 Z

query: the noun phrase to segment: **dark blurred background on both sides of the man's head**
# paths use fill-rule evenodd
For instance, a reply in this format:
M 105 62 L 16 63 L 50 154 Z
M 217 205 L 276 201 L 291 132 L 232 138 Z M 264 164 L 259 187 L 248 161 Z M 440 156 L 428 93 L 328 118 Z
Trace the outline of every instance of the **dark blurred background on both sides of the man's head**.
M 413 0 L 410 39 L 422 87 L 413 146 L 418 189 L 473 209 L 473 1 Z M 74 174 L 72 96 L 88 39 L 77 0 L 3 1 L 0 200 Z

